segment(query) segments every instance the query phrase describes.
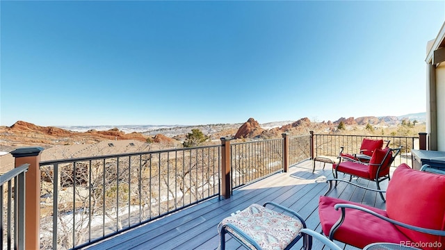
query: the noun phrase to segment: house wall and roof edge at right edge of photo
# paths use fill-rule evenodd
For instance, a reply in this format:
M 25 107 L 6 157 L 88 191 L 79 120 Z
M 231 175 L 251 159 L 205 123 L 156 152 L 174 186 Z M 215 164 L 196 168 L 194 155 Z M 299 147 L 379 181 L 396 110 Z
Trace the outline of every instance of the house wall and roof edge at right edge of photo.
M 426 133 L 430 150 L 445 151 L 445 22 L 426 47 Z

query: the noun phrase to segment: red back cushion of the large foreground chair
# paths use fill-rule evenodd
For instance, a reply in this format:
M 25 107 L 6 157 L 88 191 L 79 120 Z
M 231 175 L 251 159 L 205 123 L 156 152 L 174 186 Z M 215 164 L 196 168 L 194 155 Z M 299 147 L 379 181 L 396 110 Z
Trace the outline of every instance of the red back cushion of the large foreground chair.
M 388 217 L 405 224 L 445 230 L 445 175 L 420 172 L 405 163 L 394 171 L 387 189 Z M 401 226 L 412 242 L 441 242 L 445 238 L 411 231 Z

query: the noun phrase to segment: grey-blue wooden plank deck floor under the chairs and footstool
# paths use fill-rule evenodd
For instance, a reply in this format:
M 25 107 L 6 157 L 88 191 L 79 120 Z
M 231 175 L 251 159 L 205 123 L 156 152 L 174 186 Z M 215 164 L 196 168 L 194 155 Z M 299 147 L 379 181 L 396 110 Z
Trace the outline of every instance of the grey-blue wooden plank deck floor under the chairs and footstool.
M 195 206 L 185 208 L 113 238 L 98 242 L 88 249 L 218 249 L 218 223 L 236 210 L 243 210 L 252 203 L 274 201 L 297 211 L 305 218 L 308 228 L 321 231 L 318 219 L 318 197 L 327 190 L 325 178 L 332 178 L 330 164 L 316 164 L 312 173 L 312 161 L 305 161 L 256 183 L 234 190 L 230 199 L 210 199 Z M 340 177 L 342 175 L 340 174 Z M 348 178 L 348 176 L 344 176 Z M 358 179 L 358 183 L 375 188 L 375 183 Z M 386 189 L 387 181 L 381 184 Z M 385 203 L 375 192 L 368 192 L 353 185 L 339 183 L 331 197 L 339 197 L 377 208 L 385 208 Z M 240 244 L 227 236 L 227 249 L 238 249 Z M 344 249 L 355 249 L 337 242 Z M 302 240 L 293 247 L 301 249 Z M 243 247 L 241 247 L 243 249 Z M 323 249 L 314 240 L 313 249 Z

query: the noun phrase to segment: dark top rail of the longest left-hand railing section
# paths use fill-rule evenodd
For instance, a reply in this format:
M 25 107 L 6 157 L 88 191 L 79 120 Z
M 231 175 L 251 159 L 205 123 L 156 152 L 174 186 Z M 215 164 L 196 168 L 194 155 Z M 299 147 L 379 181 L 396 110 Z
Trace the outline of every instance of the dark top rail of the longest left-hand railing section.
M 214 147 L 221 147 L 221 145 L 188 147 L 188 148 L 181 148 L 181 149 L 162 149 L 162 150 L 156 150 L 156 151 L 142 151 L 142 152 L 135 152 L 135 153 L 120 153 L 120 154 L 112 154 L 112 155 L 106 155 L 106 156 L 86 156 L 86 157 L 81 157 L 81 158 L 69 158 L 69 159 L 60 159 L 60 160 L 45 160 L 45 161 L 40 162 L 40 166 L 52 165 L 55 163 L 72 163 L 72 162 L 80 162 L 80 161 L 86 161 L 86 160 L 103 160 L 106 158 L 118 158 L 118 157 L 120 158 L 120 157 L 146 155 L 146 154 L 152 154 L 152 153 L 168 153 L 168 152 L 174 152 L 174 151 L 188 151 L 191 149 L 205 149 L 205 148 L 214 148 Z

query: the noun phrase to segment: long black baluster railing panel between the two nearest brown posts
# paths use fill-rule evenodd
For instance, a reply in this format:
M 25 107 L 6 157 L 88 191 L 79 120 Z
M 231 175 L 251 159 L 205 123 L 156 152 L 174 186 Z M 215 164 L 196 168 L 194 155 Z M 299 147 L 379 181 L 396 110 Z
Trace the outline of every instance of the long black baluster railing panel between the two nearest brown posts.
M 43 249 L 77 249 L 217 196 L 220 146 L 40 163 Z

